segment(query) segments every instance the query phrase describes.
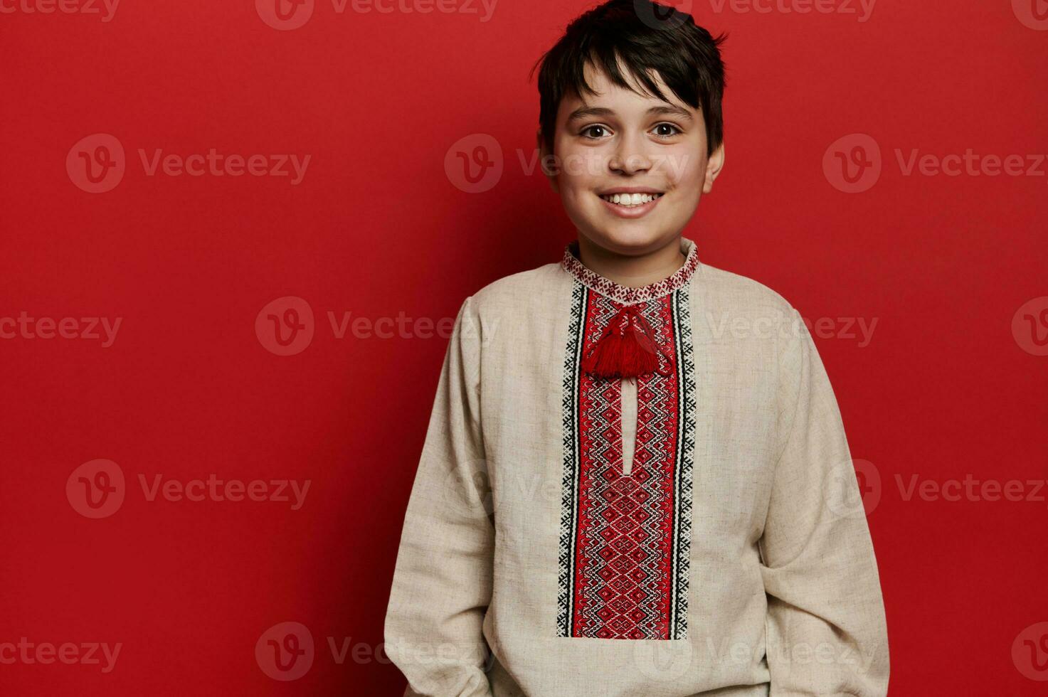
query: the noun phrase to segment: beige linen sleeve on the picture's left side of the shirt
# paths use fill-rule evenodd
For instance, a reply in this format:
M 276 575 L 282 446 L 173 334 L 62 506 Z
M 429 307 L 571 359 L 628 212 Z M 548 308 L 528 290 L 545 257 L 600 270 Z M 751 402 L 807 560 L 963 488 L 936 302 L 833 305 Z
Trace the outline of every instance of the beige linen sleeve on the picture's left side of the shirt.
M 386 611 L 386 651 L 408 678 L 405 697 L 492 694 L 482 627 L 495 529 L 479 419 L 479 334 L 466 298 L 440 371 Z

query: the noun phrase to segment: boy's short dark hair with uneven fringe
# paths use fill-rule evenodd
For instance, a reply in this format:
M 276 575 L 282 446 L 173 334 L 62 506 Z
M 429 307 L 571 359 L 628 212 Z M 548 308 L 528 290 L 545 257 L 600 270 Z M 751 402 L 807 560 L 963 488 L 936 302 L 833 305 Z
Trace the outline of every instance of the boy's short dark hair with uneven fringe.
M 581 15 L 536 63 L 536 67 L 542 65 L 539 127 L 549 152 L 553 152 L 561 100 L 567 94 L 594 93 L 586 83 L 587 62 L 602 69 L 612 84 L 636 92 L 618 69 L 621 61 L 652 95 L 665 100 L 649 70 L 657 71 L 681 102 L 701 109 L 706 154 L 713 153 L 724 138 L 720 44 L 725 38 L 724 34 L 712 37 L 691 15 L 651 0 L 608 0 Z

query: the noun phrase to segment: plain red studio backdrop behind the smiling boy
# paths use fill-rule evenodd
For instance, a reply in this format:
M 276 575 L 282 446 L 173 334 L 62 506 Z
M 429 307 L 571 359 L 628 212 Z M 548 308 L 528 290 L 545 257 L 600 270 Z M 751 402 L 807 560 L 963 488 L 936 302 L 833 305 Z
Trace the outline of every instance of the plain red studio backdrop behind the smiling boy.
M 0 319 L 123 318 L 108 348 L 0 340 L 0 644 L 123 644 L 108 674 L 0 665 L 0 693 L 400 694 L 397 670 L 370 655 L 446 342 L 336 339 L 327 313 L 454 318 L 482 285 L 560 258 L 573 231 L 517 153 L 534 145 L 528 71 L 589 6 L 501 0 L 482 22 L 321 1 L 286 31 L 249 0 L 125 0 L 110 22 L 0 15 Z M 1048 477 L 1048 357 L 1011 329 L 1048 295 L 1048 166 L 905 176 L 895 151 L 1048 153 L 1048 32 L 1007 0 L 881 0 L 866 22 L 713 7 L 694 12 L 730 32 L 727 160 L 686 234 L 704 262 L 806 318 L 840 330 L 837 318 L 877 319 L 867 346 L 832 332 L 816 343 L 852 454 L 881 479 L 869 520 L 891 694 L 1044 694 L 1012 644 L 1048 620 L 1048 503 L 905 500 L 896 477 Z M 65 168 L 94 133 L 127 153 L 104 194 Z M 444 169 L 475 133 L 504 155 L 483 193 Z M 857 194 L 822 166 L 852 133 L 883 160 Z M 291 186 L 147 176 L 137 154 L 211 148 L 311 161 Z M 279 356 L 255 322 L 287 296 L 312 308 L 315 334 Z M 127 477 L 123 506 L 101 520 L 65 494 L 95 458 Z M 210 474 L 311 488 L 290 510 L 149 501 L 137 480 Z M 304 677 L 281 682 L 255 645 L 287 620 L 316 651 Z M 328 637 L 348 637 L 344 662 Z M 367 659 L 352 658 L 357 645 Z

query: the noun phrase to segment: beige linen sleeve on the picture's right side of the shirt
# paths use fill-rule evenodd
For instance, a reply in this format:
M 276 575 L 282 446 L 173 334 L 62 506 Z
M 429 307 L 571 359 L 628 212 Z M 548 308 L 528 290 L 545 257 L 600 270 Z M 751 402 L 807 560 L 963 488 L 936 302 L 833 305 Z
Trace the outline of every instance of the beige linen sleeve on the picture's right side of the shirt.
M 770 697 L 879 697 L 889 655 L 873 542 L 829 377 L 795 309 L 791 324 L 781 374 L 792 407 L 759 544 Z

